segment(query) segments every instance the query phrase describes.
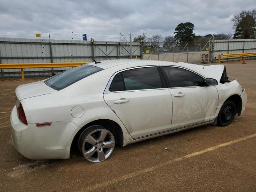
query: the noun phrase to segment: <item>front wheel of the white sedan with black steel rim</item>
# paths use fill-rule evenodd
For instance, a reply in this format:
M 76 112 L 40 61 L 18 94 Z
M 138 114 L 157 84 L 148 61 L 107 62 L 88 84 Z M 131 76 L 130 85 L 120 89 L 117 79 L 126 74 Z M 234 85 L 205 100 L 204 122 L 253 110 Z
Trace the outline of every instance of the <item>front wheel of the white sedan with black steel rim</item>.
M 218 114 L 218 126 L 228 126 L 236 116 L 236 105 L 233 101 L 226 101 Z

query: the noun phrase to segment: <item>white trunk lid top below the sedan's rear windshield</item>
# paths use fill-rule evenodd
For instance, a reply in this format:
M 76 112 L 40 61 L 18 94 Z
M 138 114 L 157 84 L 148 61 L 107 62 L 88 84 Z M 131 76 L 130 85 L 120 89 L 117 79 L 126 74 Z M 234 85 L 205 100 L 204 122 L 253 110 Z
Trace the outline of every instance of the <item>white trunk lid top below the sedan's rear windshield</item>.
M 18 100 L 50 94 L 56 92 L 56 90 L 47 86 L 43 81 L 28 83 L 24 85 L 20 85 L 16 88 L 15 93 Z

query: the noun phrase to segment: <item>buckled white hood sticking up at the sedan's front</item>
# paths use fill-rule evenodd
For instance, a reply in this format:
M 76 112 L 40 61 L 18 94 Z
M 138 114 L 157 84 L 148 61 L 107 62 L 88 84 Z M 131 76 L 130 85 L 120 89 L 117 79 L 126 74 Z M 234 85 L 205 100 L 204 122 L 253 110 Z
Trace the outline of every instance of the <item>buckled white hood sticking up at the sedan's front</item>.
M 178 62 L 178 64 L 185 65 L 187 63 Z M 194 72 L 201 74 L 205 78 L 213 78 L 213 79 L 216 79 L 218 82 L 220 82 L 224 67 L 225 65 L 204 66 L 204 65 L 196 65 L 196 64 L 187 64 L 186 66 L 186 68 L 189 68 Z

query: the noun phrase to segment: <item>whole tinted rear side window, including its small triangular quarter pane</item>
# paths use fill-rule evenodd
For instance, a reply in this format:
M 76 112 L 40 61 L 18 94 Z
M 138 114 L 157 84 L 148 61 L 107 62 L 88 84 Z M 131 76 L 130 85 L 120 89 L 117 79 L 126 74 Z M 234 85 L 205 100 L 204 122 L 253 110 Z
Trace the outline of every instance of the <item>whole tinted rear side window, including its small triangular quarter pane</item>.
M 143 90 L 162 88 L 161 78 L 156 67 L 130 69 L 116 74 L 110 91 Z

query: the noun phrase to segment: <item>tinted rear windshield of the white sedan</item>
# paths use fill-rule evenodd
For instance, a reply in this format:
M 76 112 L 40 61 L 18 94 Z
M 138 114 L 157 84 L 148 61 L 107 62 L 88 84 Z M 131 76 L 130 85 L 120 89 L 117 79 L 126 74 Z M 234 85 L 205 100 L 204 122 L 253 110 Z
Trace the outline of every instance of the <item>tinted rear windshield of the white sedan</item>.
M 66 70 L 58 75 L 55 75 L 47 80 L 45 80 L 45 84 L 55 90 L 62 90 L 71 84 L 86 78 L 96 72 L 103 70 L 100 67 L 92 66 L 92 65 L 82 65 L 75 68 L 71 68 Z

